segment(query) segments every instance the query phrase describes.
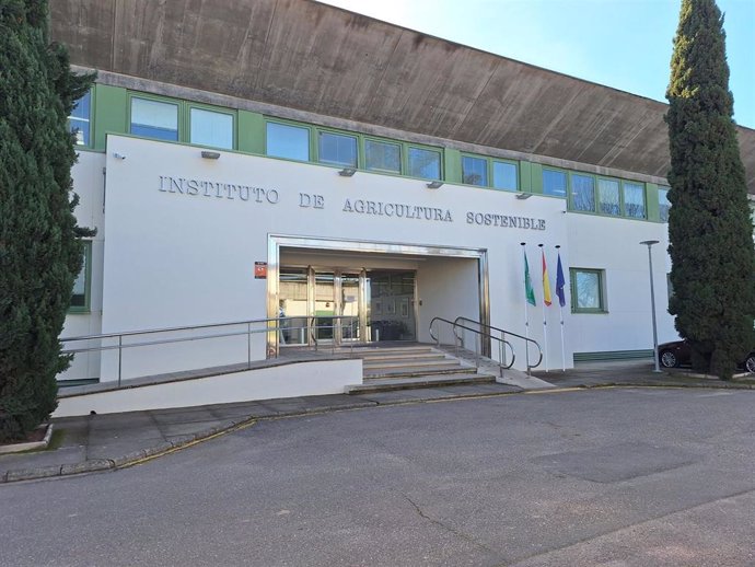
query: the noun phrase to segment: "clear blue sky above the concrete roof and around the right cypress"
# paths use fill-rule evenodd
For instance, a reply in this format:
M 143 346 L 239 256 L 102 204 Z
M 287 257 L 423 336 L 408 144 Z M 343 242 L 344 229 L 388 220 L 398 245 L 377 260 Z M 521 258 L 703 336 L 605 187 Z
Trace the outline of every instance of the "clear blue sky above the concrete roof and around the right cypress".
M 681 0 L 320 0 L 666 102 Z M 755 0 L 724 13 L 734 119 L 755 129 Z

